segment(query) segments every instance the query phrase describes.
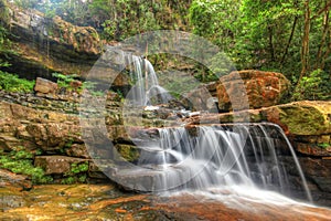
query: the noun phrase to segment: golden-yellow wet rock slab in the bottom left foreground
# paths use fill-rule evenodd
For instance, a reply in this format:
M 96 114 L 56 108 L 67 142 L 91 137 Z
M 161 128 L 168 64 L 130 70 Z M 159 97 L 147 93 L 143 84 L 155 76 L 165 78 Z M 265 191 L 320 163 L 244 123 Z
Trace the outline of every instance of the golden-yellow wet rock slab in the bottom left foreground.
M 147 194 L 114 185 L 36 186 L 29 192 L 0 188 L 1 220 L 195 220 L 154 207 Z

